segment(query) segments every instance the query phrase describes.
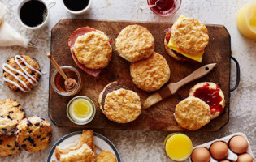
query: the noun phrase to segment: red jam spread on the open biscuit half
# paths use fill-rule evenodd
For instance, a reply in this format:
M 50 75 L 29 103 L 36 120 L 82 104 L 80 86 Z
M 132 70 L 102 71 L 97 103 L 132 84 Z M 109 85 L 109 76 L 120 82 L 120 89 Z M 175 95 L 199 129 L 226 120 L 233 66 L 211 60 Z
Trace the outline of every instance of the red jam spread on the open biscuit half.
M 210 106 L 210 113 L 222 113 L 223 107 L 219 104 L 222 100 L 222 97 L 219 96 L 219 86 L 216 85 L 216 89 L 210 89 L 209 83 L 206 83 L 204 86 L 197 88 L 193 96 L 200 98 L 205 101 Z

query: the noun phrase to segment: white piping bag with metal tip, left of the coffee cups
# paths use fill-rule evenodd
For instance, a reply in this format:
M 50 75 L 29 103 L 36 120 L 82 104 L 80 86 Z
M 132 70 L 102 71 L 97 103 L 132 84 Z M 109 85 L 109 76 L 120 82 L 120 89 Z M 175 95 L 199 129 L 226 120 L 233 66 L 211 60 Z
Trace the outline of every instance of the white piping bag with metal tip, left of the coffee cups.
M 28 48 L 30 40 L 20 36 L 20 34 L 5 21 L 7 15 L 6 9 L 7 7 L 0 2 L 0 46 L 19 45 Z

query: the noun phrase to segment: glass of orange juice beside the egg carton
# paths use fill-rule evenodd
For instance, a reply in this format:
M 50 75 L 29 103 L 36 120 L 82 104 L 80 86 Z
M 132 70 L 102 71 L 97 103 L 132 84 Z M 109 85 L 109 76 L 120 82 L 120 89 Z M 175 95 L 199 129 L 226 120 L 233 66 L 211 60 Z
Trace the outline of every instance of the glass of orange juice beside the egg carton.
M 191 156 L 193 143 L 186 134 L 169 134 L 164 140 L 164 149 L 171 160 L 184 161 Z

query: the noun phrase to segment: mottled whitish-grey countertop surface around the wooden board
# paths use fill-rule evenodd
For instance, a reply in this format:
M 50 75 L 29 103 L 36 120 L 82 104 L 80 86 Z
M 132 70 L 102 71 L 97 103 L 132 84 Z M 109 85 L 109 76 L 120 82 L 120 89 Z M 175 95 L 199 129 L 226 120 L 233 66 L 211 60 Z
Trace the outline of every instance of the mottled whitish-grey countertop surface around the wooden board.
M 140 11 L 138 6 L 145 4 L 145 0 L 93 0 L 90 11 L 85 15 L 75 16 L 67 13 L 61 1 L 55 0 L 56 5 L 50 9 L 50 21 L 46 28 L 31 31 L 23 28 L 16 18 L 16 8 L 20 0 L 2 0 L 7 7 L 7 22 L 21 35 L 33 40 L 40 49 L 24 49 L 20 47 L 0 47 L 0 64 L 14 54 L 28 54 L 37 58 L 44 72 L 49 71 L 50 62 L 46 53 L 50 52 L 50 30 L 59 19 L 87 18 L 107 20 L 132 20 L 174 22 L 180 14 L 193 17 L 208 24 L 224 25 L 231 35 L 232 56 L 241 65 L 241 83 L 235 92 L 231 93 L 230 120 L 226 126 L 215 133 L 187 133 L 195 145 L 219 139 L 223 136 L 242 132 L 247 135 L 251 147 L 256 155 L 256 40 L 249 40 L 241 36 L 236 28 L 236 14 L 248 0 L 183 0 L 180 10 L 175 16 L 159 17 L 150 10 Z M 50 0 L 45 1 L 49 4 Z M 236 80 L 236 66 L 232 62 L 231 87 Z M 39 85 L 26 94 L 11 92 L 2 81 L 0 73 L 0 99 L 12 98 L 23 105 L 28 116 L 37 115 L 48 118 L 48 89 L 49 73 L 41 77 Z M 53 140 L 45 151 L 28 153 L 22 151 L 20 155 L 0 158 L 8 161 L 46 161 L 50 148 L 63 135 L 76 129 L 58 128 L 52 124 Z M 163 131 L 133 131 L 133 130 L 95 130 L 110 139 L 119 150 L 124 162 L 136 161 L 169 161 L 163 150 L 163 140 L 169 134 Z

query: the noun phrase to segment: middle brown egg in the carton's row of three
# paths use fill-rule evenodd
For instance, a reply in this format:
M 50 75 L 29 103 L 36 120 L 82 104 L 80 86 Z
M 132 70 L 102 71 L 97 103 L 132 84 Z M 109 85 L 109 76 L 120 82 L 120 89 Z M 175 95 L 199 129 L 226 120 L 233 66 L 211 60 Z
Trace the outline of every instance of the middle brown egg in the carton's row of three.
M 228 145 L 222 141 L 211 144 L 210 155 L 216 160 L 223 160 L 228 156 Z

